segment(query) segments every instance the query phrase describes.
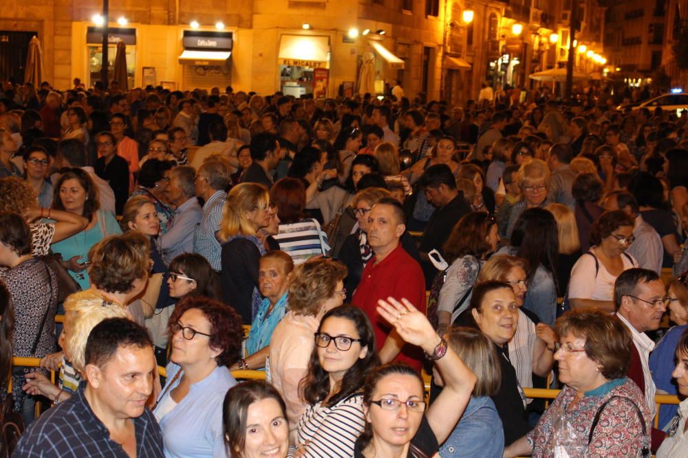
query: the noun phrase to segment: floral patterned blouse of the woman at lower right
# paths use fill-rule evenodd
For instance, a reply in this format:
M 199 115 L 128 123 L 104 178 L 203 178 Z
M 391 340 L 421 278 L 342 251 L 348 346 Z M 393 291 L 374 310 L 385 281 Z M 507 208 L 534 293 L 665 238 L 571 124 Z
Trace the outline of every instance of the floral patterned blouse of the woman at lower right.
M 528 442 L 533 445 L 534 458 L 555 456 L 553 425 L 562 411 L 566 411 L 566 420 L 581 437 L 583 444 L 587 443 L 597 410 L 612 396 L 628 399 L 616 398 L 607 404 L 600 415 L 592 441 L 585 451 L 585 457 L 636 456 L 637 451 L 643 447 L 643 426 L 638 412 L 630 401 L 641 409 L 648 434 L 649 428 L 652 427 L 652 417 L 645 406 L 643 393 L 633 380 L 625 377 L 610 380 L 599 388 L 585 392 L 583 399 L 569 409 L 575 396 L 576 390 L 568 386 L 564 387 L 550 408 L 542 415 L 535 429 L 526 435 Z

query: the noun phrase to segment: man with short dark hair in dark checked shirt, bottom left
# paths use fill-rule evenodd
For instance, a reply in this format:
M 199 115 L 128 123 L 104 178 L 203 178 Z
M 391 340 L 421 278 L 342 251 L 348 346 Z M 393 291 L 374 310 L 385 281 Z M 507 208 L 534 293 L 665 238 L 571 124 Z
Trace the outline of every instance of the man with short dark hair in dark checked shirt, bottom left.
M 148 331 L 125 318 L 101 321 L 85 363 L 88 383 L 33 422 L 12 456 L 164 457 L 160 426 L 146 407 L 157 370 Z

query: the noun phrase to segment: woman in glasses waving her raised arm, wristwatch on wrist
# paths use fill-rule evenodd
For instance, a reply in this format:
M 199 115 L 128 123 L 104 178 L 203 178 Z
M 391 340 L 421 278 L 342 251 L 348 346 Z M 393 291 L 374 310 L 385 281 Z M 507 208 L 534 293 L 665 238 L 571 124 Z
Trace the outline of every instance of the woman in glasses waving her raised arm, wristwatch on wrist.
M 406 299 L 379 301 L 378 313 L 404 341 L 421 347 L 435 362 L 444 389 L 426 410 L 422 379 L 411 367 L 392 363 L 374 369 L 363 388 L 366 424 L 354 457 L 430 457 L 464 412 L 475 375 Z

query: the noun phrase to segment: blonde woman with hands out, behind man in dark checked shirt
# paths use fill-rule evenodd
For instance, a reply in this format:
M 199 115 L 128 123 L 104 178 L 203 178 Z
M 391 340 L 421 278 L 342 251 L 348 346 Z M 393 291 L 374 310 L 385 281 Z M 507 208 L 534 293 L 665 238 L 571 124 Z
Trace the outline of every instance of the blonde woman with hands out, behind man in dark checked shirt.
M 86 341 L 91 330 L 106 318 L 129 318 L 125 308 L 106 301 L 95 290 L 70 295 L 64 306 L 65 321 L 58 340 L 63 351 L 41 360 L 41 367 L 47 369 L 56 369 L 57 363 L 62 363 L 58 385 L 40 372 L 31 372 L 25 374 L 26 383 L 21 387 L 27 394 L 45 396 L 54 404 L 76 393 L 85 367 Z

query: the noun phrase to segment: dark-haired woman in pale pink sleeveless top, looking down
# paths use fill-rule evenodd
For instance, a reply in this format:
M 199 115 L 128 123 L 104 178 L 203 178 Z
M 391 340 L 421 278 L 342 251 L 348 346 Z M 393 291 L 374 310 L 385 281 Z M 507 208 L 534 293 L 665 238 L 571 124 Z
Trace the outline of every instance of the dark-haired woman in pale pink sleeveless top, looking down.
M 590 250 L 583 253 L 571 270 L 568 284 L 570 308 L 601 308 L 615 312 L 614 282 L 636 259 L 625 253 L 635 240 L 634 220 L 621 210 L 605 211 L 592 225 Z

